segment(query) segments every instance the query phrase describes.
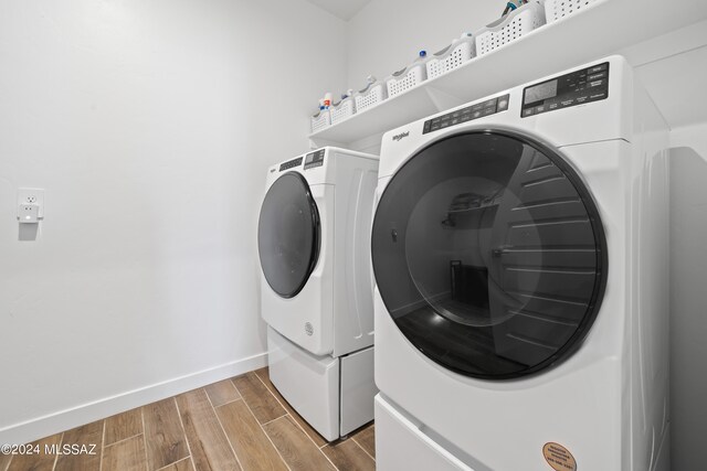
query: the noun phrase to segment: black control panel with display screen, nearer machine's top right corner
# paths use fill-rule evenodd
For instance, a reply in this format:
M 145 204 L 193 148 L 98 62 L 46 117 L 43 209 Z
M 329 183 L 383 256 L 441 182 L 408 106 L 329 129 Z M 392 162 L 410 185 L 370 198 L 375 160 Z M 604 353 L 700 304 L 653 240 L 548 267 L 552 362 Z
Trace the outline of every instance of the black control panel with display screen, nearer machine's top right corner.
M 597 64 L 523 89 L 520 117 L 540 115 L 609 97 L 609 63 Z

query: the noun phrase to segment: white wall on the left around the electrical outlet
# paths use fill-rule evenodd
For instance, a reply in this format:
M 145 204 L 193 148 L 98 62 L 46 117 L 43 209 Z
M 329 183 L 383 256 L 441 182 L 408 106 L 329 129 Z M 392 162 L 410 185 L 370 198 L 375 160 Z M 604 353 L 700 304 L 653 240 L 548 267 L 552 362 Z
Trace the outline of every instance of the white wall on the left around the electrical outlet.
M 345 88 L 346 23 L 304 0 L 0 10 L 0 442 L 264 364 L 265 170 Z M 34 242 L 20 186 L 46 190 Z

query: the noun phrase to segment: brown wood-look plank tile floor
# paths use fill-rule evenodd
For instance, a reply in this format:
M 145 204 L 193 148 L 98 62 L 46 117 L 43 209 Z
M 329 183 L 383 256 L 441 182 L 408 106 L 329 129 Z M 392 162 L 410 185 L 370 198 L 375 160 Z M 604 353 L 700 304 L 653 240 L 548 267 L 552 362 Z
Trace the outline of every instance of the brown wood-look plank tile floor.
M 44 453 L 95 443 L 95 454 Z M 374 426 L 321 438 L 283 399 L 267 368 L 190 390 L 32 442 L 42 452 L 0 454 L 0 471 L 373 470 Z

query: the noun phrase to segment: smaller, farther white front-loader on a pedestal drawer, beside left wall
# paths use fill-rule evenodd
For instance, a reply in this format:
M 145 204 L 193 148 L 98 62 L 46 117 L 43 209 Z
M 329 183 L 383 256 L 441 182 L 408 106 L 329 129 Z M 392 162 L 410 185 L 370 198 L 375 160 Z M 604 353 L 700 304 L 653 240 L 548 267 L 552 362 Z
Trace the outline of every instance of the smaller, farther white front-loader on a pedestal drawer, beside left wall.
M 327 440 L 373 419 L 377 183 L 378 157 L 333 147 L 267 172 L 257 244 L 270 378 Z

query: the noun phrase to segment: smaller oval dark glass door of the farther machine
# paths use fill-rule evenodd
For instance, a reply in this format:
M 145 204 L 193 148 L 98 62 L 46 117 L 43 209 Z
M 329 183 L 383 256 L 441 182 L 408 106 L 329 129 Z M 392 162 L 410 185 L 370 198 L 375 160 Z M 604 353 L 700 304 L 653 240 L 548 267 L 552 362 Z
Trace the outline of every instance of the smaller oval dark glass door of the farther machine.
M 319 256 L 319 212 L 302 174 L 287 172 L 265 194 L 257 225 L 257 251 L 270 287 L 296 296 Z

